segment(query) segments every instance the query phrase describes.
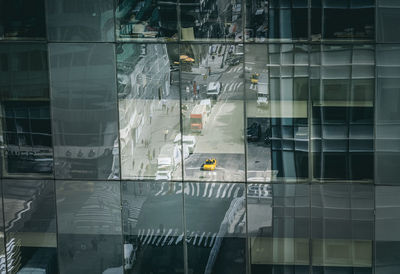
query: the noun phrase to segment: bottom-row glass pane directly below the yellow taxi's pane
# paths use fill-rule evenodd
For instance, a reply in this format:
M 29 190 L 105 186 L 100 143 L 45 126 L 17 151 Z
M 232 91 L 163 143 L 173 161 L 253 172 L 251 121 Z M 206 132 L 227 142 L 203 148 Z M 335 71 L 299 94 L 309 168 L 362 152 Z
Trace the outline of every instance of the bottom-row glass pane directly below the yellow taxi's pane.
M 245 273 L 245 185 L 184 186 L 189 273 Z

